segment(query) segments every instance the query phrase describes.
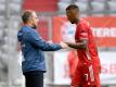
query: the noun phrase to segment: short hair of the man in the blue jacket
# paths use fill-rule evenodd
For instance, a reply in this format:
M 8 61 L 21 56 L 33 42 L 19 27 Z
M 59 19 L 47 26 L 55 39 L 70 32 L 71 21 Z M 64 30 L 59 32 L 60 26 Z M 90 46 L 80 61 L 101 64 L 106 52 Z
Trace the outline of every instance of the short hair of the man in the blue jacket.
M 33 15 L 33 10 L 26 10 L 24 11 L 23 15 L 22 15 L 22 20 L 24 23 L 27 23 L 29 17 Z

